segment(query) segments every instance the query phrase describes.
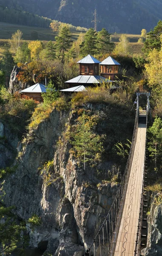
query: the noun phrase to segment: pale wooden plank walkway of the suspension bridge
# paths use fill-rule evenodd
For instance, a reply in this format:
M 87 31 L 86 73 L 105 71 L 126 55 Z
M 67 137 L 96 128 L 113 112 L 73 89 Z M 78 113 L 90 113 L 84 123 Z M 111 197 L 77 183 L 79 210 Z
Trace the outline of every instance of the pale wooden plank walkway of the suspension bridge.
M 145 160 L 146 124 L 139 123 L 122 221 L 114 256 L 134 256 Z

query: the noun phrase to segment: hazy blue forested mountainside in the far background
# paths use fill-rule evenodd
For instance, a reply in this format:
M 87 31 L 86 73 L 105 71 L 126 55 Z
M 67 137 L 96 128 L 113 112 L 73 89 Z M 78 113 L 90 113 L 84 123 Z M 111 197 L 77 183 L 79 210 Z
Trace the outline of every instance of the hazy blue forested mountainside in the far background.
M 98 30 L 139 34 L 162 19 L 159 0 L 0 0 L 3 6 L 32 12 L 74 26 L 91 27 L 97 9 Z

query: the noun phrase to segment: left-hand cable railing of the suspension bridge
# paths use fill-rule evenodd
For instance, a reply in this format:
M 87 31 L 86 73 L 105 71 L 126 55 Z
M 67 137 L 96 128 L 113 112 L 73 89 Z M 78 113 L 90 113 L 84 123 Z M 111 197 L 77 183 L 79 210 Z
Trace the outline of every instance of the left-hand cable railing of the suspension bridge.
M 122 182 L 120 183 L 118 192 L 113 200 L 109 212 L 107 213 L 100 229 L 93 239 L 88 251 L 93 256 L 113 256 L 116 248 L 120 223 L 122 219 L 122 212 L 124 209 L 124 202 L 127 192 L 127 184 L 130 176 L 130 169 L 133 161 L 133 154 L 136 145 L 137 129 L 139 119 L 139 102 L 137 101 L 136 117 L 134 123 L 133 137 L 130 147 L 130 152 L 127 160 L 127 165 L 124 170 Z

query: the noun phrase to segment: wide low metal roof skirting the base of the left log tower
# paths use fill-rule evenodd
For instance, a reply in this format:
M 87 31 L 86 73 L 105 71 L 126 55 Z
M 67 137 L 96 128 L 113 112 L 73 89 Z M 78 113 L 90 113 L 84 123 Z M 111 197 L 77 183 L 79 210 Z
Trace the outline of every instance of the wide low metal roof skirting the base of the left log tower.
M 78 84 L 102 84 L 102 82 L 112 82 L 103 76 L 77 76 L 73 79 L 66 81 L 65 83 L 78 83 Z

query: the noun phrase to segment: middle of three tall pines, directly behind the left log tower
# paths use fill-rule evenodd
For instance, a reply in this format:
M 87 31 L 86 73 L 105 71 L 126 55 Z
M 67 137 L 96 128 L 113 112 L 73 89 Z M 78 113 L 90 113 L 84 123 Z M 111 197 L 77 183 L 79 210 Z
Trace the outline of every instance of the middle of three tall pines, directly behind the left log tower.
M 84 42 L 81 44 L 81 55 L 94 55 L 96 53 L 96 38 L 97 33 L 93 28 L 90 28 L 84 36 Z

